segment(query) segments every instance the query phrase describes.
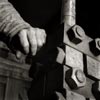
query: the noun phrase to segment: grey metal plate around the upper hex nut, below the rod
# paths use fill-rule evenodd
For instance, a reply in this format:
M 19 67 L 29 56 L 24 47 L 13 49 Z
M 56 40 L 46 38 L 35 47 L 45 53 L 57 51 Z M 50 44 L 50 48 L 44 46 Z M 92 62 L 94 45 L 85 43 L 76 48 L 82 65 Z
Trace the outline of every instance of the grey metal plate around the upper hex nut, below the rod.
M 64 44 L 69 45 L 70 47 L 75 48 L 76 50 L 78 50 L 80 52 L 83 52 L 84 54 L 86 54 L 88 56 L 91 56 L 94 59 L 100 61 L 100 55 L 95 56 L 93 54 L 93 52 L 91 52 L 91 50 L 90 50 L 90 44 L 89 43 L 93 41 L 92 38 L 90 38 L 89 36 L 85 35 L 85 37 L 82 40 L 82 42 L 80 42 L 78 45 L 76 45 L 76 44 L 74 44 L 73 42 L 70 41 L 70 39 L 69 39 L 69 37 L 67 35 L 67 32 L 71 27 L 69 25 L 67 25 L 67 24 L 65 24 L 64 27 L 65 27 L 64 28 L 64 39 L 63 39 Z

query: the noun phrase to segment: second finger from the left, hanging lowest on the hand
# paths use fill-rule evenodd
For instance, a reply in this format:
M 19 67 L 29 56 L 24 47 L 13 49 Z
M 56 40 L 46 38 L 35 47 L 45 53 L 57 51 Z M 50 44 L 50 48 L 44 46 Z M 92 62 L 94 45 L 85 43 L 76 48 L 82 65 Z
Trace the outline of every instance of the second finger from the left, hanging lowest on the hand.
M 28 40 L 30 44 L 31 54 L 34 56 L 37 52 L 37 40 L 36 40 L 36 30 L 30 28 L 28 31 Z

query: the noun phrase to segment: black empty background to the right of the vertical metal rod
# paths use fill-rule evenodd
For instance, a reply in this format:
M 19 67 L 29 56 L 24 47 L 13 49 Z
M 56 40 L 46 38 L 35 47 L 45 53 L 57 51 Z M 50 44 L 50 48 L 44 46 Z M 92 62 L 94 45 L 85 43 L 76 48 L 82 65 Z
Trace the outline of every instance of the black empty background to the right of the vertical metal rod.
M 100 37 L 99 0 L 76 0 L 77 24 L 92 38 Z

